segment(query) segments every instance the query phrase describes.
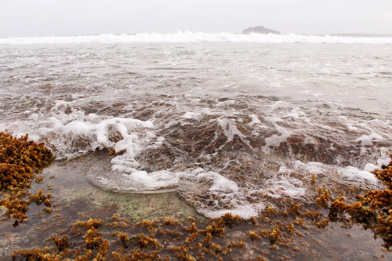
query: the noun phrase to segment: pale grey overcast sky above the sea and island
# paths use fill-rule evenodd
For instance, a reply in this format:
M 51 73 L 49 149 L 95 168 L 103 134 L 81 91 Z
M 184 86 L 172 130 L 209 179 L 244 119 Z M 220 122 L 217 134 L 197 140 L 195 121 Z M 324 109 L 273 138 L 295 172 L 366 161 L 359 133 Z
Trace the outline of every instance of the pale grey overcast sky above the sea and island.
M 392 0 L 0 0 L 0 37 L 103 33 L 392 34 Z

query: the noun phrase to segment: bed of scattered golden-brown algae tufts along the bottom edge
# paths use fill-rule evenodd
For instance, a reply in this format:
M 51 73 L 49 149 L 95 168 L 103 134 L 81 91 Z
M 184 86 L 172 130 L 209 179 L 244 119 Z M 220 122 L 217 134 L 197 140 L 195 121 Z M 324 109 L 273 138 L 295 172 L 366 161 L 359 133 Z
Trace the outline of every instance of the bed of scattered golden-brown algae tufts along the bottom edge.
M 325 195 L 325 190 L 321 194 Z M 192 217 L 135 221 L 114 214 L 107 220 L 110 223 L 93 218 L 77 221 L 62 230 L 60 236 L 49 237 L 51 243 L 46 247 L 17 250 L 13 257 L 118 261 L 298 259 L 312 245 L 321 244 L 310 238 L 307 243 L 301 242 L 312 231 L 328 227 L 327 213 L 333 209 L 326 205 L 320 209 L 316 200 L 314 209 L 309 209 L 287 199 L 279 202 L 279 208 L 269 207 L 249 221 L 229 213 L 207 221 Z M 320 225 L 323 222 L 327 223 Z

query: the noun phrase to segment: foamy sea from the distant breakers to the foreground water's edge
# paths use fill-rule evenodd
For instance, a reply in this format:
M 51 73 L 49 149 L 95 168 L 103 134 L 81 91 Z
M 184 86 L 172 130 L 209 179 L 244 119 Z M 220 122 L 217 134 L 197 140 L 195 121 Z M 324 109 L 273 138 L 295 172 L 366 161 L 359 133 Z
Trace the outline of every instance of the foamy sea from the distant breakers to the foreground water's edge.
M 98 194 L 169 195 L 188 214 L 250 219 L 278 199 L 311 204 L 312 174 L 334 197 L 385 188 L 370 171 L 390 161 L 391 44 L 190 32 L 1 38 L 0 130 L 44 142 L 53 166 L 90 158 L 67 175 Z

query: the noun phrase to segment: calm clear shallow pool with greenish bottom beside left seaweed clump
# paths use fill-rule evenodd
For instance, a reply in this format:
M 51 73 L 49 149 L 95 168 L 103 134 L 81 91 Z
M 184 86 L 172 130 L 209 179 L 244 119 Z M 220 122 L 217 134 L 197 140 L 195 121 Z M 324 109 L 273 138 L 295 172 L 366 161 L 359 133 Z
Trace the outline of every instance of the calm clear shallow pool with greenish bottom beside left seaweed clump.
M 99 153 L 98 153 L 99 154 Z M 114 214 L 129 220 L 157 219 L 168 216 L 174 219 L 185 219 L 198 216 L 192 208 L 182 203 L 173 193 L 155 193 L 149 195 L 111 194 L 92 187 L 85 179 L 85 167 L 102 158 L 91 154 L 81 159 L 68 162 L 56 161 L 37 176 L 44 177 L 44 183 L 32 183 L 30 192 L 45 189 L 45 193 L 54 196 L 51 213 L 45 213 L 45 206 L 29 205 L 27 222 L 12 226 L 12 220 L 0 222 L 0 239 L 2 260 L 11 260 L 16 249 L 44 248 L 51 244 L 54 233 L 69 228 L 87 216 L 111 221 Z M 52 178 L 50 178 L 52 177 Z M 88 218 L 87 218 L 88 219 Z

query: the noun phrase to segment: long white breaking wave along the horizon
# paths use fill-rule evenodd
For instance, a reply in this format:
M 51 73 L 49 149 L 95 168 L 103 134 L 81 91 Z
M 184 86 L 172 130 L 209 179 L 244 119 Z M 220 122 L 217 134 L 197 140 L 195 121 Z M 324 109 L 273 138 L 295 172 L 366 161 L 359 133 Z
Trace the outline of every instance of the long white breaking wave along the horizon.
M 174 34 L 99 34 L 78 36 L 47 36 L 0 38 L 0 44 L 77 44 L 77 43 L 192 43 L 192 42 L 253 42 L 253 43 L 310 43 L 310 44 L 392 44 L 392 37 L 347 37 L 300 34 L 230 34 L 192 33 Z

